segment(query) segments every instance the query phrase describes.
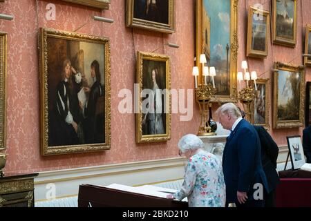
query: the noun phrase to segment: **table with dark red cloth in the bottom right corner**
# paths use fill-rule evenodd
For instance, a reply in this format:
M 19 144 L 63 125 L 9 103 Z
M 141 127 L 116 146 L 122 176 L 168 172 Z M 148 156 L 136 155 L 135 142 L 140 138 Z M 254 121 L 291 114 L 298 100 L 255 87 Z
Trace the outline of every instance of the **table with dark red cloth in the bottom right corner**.
M 276 207 L 311 207 L 311 172 L 280 171 Z

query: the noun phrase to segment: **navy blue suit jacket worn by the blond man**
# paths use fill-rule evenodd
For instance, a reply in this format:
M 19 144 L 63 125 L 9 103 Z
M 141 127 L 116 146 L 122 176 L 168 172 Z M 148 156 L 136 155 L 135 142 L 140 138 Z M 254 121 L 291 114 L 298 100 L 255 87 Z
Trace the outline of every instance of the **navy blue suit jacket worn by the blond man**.
M 238 123 L 227 138 L 223 151 L 223 175 L 227 202 L 238 202 L 236 192 L 247 192 L 254 200 L 254 184 L 263 184 L 268 190 L 267 179 L 261 164 L 261 143 L 254 127 L 245 119 Z

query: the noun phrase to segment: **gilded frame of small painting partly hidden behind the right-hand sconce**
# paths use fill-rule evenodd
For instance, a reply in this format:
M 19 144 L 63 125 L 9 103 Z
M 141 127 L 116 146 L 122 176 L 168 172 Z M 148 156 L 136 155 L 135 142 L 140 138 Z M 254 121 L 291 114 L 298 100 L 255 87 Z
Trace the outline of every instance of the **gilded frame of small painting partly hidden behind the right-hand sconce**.
M 260 85 L 265 85 L 265 124 L 256 124 L 255 120 L 254 125 L 263 126 L 267 130 L 270 129 L 270 123 L 269 123 L 269 117 L 270 117 L 270 81 L 269 79 L 257 79 L 256 80 L 257 88 L 260 87 Z M 256 96 L 260 96 L 260 91 L 257 90 Z M 255 108 L 256 104 L 255 101 L 253 102 L 253 117 L 255 117 Z

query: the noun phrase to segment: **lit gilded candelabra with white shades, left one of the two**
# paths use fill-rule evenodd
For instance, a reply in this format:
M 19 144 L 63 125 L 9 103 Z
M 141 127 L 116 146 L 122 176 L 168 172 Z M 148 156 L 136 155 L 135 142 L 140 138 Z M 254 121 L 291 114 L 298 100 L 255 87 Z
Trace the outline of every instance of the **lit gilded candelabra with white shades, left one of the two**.
M 196 90 L 196 102 L 198 102 L 200 108 L 200 126 L 198 129 L 199 136 L 216 135 L 217 125 L 210 125 L 211 122 L 211 97 L 216 94 L 214 77 L 216 76 L 215 67 L 207 67 L 205 64 L 207 59 L 205 54 L 200 55 L 200 64 L 202 64 L 202 76 L 204 77 L 204 84 L 198 84 L 199 69 L 198 66 L 194 66 L 192 69 L 192 75 L 194 75 L 195 90 Z M 211 83 L 210 84 L 210 78 Z

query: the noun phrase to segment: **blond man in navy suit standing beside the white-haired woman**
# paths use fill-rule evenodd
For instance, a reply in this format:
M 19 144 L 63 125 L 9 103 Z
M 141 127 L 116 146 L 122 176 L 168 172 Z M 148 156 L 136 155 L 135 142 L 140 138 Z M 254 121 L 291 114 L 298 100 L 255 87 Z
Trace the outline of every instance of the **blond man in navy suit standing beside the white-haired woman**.
M 261 144 L 255 128 L 232 104 L 223 104 L 216 114 L 223 128 L 230 130 L 223 151 L 223 174 L 227 203 L 238 207 L 264 206 L 267 179 L 261 165 Z

